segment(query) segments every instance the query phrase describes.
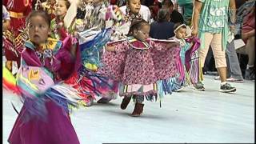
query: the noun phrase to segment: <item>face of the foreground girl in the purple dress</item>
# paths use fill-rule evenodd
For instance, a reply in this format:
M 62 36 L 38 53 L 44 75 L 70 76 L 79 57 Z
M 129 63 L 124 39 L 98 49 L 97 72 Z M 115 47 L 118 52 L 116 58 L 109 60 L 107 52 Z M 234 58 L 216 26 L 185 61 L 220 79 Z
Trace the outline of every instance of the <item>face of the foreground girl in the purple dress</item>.
M 29 36 L 30 41 L 35 45 L 40 45 L 46 42 L 48 34 L 50 34 L 50 26 L 42 16 L 34 16 L 29 21 Z

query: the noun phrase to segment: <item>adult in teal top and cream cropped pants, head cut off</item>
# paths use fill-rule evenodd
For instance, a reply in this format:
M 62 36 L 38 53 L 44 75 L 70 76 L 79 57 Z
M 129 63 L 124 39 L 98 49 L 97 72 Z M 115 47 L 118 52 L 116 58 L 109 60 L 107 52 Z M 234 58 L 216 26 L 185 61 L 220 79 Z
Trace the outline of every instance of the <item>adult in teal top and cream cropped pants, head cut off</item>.
M 230 9 L 226 9 L 230 6 Z M 214 7 L 214 9 L 213 9 Z M 213 13 L 208 13 L 211 10 Z M 221 10 L 221 13 L 214 13 Z M 221 92 L 234 92 L 236 88 L 226 82 L 226 44 L 229 33 L 228 12 L 230 10 L 231 23 L 235 18 L 235 1 L 212 1 L 212 0 L 195 0 L 193 13 L 193 30 L 192 35 L 197 35 L 201 40 L 199 57 L 201 66 L 204 65 L 209 46 L 214 52 L 215 64 L 218 74 L 221 78 Z M 200 15 L 200 20 L 199 20 Z M 221 25 L 218 25 L 221 23 Z M 233 28 L 230 25 L 230 28 Z M 199 33 L 198 33 L 199 32 Z M 198 82 L 198 90 L 204 89 L 202 82 Z

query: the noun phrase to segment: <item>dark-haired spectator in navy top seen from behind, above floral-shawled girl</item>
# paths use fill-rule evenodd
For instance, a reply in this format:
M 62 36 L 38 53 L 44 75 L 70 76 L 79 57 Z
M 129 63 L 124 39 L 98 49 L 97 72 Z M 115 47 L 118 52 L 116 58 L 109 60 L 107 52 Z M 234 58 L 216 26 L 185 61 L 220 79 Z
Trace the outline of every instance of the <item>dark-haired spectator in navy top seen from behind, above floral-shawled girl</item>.
M 174 23 L 170 21 L 169 10 L 158 11 L 158 21 L 150 25 L 150 37 L 157 39 L 168 39 L 174 37 Z

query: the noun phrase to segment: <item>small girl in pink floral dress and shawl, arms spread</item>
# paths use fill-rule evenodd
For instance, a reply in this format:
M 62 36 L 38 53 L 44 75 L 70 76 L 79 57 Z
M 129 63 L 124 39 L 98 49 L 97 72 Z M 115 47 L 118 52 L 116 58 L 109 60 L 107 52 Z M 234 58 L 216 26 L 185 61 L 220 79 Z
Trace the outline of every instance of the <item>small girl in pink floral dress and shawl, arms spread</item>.
M 100 74 L 121 83 L 119 95 L 124 97 L 124 110 L 133 97 L 135 103 L 132 116 L 142 114 L 144 98 L 157 100 L 168 91 L 158 91 L 158 80 L 174 77 L 178 71 L 175 60 L 179 56 L 176 42 L 148 39 L 150 25 L 143 19 L 134 19 L 130 34 L 125 40 L 110 42 L 103 54 L 104 66 Z M 161 88 L 162 89 L 162 88 Z

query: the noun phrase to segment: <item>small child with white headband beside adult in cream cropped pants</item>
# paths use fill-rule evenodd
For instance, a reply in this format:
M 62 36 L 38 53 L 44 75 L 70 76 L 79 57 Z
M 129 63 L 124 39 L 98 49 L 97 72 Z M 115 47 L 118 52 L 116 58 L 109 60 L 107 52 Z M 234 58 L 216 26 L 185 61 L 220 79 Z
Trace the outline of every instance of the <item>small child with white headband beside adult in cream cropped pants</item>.
M 200 41 L 195 37 L 186 35 L 186 25 L 176 23 L 174 25 L 174 38 L 170 38 L 180 44 L 180 57 L 176 60 L 178 74 L 174 78 L 163 80 L 162 84 L 170 91 L 182 90 L 183 86 L 195 85 L 202 79 L 202 69 L 199 65 L 198 48 Z

